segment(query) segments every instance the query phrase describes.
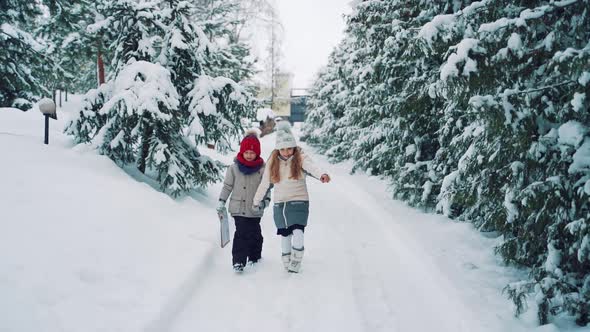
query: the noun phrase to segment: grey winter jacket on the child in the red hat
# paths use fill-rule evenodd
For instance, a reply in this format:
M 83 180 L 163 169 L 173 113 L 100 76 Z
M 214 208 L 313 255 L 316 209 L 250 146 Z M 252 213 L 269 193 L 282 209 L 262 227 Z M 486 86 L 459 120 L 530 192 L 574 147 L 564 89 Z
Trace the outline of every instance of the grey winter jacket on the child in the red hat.
M 223 189 L 219 195 L 219 200 L 227 202 L 228 212 L 232 216 L 242 216 L 247 218 L 260 218 L 264 210 L 253 210 L 252 201 L 258 185 L 262 180 L 264 173 L 264 165 L 252 174 L 244 174 L 240 172 L 236 163 L 231 164 L 225 173 L 225 180 L 223 181 Z M 231 194 L 231 196 L 230 196 Z M 270 190 L 267 191 L 264 203 L 268 205 L 270 202 Z

